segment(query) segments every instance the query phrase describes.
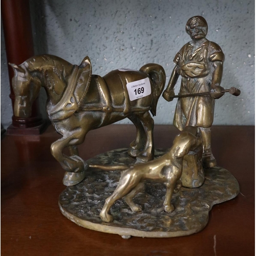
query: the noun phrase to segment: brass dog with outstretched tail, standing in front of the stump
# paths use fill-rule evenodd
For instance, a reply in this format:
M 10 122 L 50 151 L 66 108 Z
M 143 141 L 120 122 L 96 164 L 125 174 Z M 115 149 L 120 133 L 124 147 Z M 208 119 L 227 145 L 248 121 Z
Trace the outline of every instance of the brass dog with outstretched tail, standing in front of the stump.
M 151 179 L 162 182 L 166 186 L 166 196 L 164 200 L 164 210 L 173 211 L 175 208 L 171 204 L 172 195 L 177 185 L 177 191 L 182 186 L 180 177 L 182 174 L 183 157 L 189 151 L 196 150 L 202 146 L 202 139 L 199 137 L 198 128 L 187 126 L 178 134 L 173 142 L 169 152 L 147 163 L 135 165 L 90 165 L 90 167 L 103 170 L 123 170 L 119 183 L 114 193 L 105 200 L 105 204 L 100 212 L 100 218 L 104 222 L 113 221 L 109 214 L 111 206 L 120 198 L 131 207 L 135 212 L 141 211 L 140 205 L 135 204 L 132 199 L 143 189 L 143 180 Z

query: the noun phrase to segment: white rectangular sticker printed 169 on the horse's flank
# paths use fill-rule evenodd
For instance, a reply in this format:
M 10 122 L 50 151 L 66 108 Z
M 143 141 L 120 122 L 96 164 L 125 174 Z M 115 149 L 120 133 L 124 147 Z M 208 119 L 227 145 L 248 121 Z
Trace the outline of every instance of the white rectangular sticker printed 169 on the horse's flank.
M 126 84 L 126 88 L 131 101 L 151 94 L 151 84 L 148 77 L 138 81 L 129 82 Z

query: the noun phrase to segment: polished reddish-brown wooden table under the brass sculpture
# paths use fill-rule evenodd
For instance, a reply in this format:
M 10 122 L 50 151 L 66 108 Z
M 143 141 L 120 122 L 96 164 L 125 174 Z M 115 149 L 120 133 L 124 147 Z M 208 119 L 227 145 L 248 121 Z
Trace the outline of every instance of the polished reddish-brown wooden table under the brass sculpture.
M 168 148 L 177 134 L 155 126 L 157 148 Z M 89 159 L 135 138 L 133 125 L 109 125 L 89 132 L 79 146 Z M 239 181 L 237 198 L 215 205 L 207 226 L 180 238 L 124 240 L 116 234 L 77 226 L 60 213 L 64 171 L 50 154 L 59 138 L 50 126 L 40 136 L 6 135 L 1 141 L 2 255 L 254 255 L 254 126 L 213 126 L 212 150 L 218 165 Z

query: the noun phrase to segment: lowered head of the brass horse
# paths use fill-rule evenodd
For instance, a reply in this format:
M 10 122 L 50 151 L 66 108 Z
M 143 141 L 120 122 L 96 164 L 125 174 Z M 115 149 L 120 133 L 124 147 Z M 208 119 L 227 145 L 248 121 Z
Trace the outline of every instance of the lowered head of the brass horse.
M 41 82 L 38 77 L 33 77 L 29 71 L 12 63 L 9 65 L 14 70 L 12 88 L 15 94 L 14 116 L 28 118 L 31 116 L 32 103 L 39 94 Z

